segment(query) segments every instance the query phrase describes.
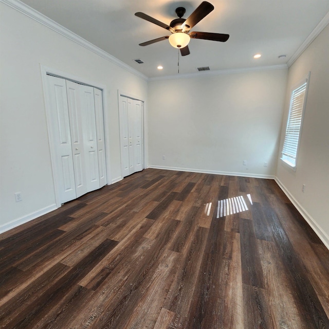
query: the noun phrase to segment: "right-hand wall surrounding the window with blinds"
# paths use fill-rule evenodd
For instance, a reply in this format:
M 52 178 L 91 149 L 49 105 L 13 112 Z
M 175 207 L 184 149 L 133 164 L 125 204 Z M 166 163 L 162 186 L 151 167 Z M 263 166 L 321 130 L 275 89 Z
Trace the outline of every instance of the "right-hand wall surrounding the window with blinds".
M 329 26 L 290 66 L 284 105 L 284 140 L 291 88 L 310 71 L 297 170 L 280 159 L 277 179 L 329 248 Z M 282 146 L 281 146 L 282 147 Z M 281 151 L 281 148 L 280 148 Z M 305 192 L 302 185 L 305 184 Z

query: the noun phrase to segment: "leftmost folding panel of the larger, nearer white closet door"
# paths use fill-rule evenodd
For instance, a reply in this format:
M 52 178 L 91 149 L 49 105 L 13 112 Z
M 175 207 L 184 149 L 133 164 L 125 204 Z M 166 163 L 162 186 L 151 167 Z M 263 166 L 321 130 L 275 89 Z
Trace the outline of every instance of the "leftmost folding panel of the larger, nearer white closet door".
M 76 198 L 66 81 L 47 76 L 54 157 L 60 203 Z

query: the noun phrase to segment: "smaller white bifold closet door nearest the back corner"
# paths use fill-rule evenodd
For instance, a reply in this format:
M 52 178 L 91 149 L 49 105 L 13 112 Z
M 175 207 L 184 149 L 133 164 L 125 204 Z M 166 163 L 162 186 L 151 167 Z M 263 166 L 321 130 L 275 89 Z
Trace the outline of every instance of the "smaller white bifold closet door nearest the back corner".
M 143 170 L 143 102 L 120 96 L 120 147 L 123 177 Z

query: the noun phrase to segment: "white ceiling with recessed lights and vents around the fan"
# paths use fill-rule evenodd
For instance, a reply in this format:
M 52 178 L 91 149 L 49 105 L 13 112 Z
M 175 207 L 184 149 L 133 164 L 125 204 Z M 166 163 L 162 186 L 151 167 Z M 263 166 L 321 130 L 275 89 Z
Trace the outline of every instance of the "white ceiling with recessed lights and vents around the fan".
M 82 36 L 149 78 L 176 75 L 178 49 L 168 40 L 138 44 L 169 35 L 165 29 L 136 17 L 137 11 L 170 24 L 177 7 L 187 17 L 202 2 L 168 0 L 22 0 L 53 21 Z M 180 74 L 285 64 L 329 12 L 329 0 L 209 0 L 215 9 L 194 31 L 228 33 L 227 42 L 192 39 L 191 54 L 179 59 Z M 258 60 L 255 53 L 261 53 Z M 285 54 L 285 59 L 278 56 Z M 137 64 L 141 59 L 144 64 Z M 162 65 L 163 70 L 157 70 Z M 202 74 L 202 72 L 200 72 Z

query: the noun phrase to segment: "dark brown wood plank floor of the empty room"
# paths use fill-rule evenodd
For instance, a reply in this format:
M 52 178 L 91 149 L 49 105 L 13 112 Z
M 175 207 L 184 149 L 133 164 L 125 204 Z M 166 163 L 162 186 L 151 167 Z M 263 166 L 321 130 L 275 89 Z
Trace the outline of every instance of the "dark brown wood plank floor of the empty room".
M 147 169 L 0 252 L 2 328 L 329 329 L 329 251 L 273 180 Z

